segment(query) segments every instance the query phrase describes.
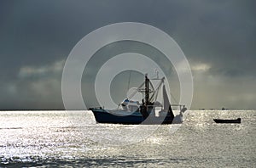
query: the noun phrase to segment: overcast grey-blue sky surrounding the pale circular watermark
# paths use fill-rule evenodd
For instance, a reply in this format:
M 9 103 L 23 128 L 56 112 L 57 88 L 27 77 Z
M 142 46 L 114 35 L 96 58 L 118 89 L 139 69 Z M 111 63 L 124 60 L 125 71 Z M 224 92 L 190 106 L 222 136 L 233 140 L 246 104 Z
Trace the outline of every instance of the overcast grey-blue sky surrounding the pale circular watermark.
M 177 42 L 193 74 L 191 109 L 256 109 L 255 6 L 253 0 L 2 0 L 0 109 L 64 109 L 69 53 L 91 31 L 119 22 L 153 25 Z M 101 50 L 98 58 L 111 52 Z

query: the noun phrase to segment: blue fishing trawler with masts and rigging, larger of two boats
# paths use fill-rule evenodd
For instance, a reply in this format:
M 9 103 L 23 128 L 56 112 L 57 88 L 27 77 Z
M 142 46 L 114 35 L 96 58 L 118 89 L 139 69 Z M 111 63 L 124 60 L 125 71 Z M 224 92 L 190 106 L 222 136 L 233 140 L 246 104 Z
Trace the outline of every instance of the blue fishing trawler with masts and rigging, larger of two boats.
M 125 98 L 119 104 L 117 109 L 90 108 L 95 116 L 97 123 L 112 123 L 112 124 L 180 124 L 183 122 L 183 113 L 187 110 L 185 105 L 170 104 L 166 92 L 165 77 L 152 80 L 159 80 L 159 84 L 154 89 L 152 82 L 145 75 L 145 81 L 136 92 L 142 92 L 144 98 L 142 102 Z M 158 94 L 162 89 L 163 103 L 157 101 Z M 131 97 L 135 93 L 131 94 Z M 179 115 L 174 115 L 172 107 L 177 106 Z M 157 110 L 160 109 L 160 110 Z

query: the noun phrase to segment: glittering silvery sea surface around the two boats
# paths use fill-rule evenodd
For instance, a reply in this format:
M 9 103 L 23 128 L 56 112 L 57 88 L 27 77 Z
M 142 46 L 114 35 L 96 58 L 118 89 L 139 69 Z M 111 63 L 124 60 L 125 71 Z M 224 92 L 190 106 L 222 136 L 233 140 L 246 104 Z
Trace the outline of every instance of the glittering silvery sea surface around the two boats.
M 255 167 L 255 126 L 256 110 L 189 110 L 172 126 L 96 124 L 90 111 L 0 111 L 0 167 Z

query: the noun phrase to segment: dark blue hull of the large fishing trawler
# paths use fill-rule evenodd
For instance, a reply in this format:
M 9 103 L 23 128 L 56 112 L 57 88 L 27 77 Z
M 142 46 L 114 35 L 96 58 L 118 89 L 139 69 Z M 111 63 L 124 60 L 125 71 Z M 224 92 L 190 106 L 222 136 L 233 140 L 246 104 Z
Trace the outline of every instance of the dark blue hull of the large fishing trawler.
M 169 115 L 155 117 L 153 114 L 149 115 L 145 120 L 140 112 L 129 113 L 127 111 L 108 111 L 105 109 L 90 109 L 95 116 L 97 123 L 111 123 L 111 124 L 125 124 L 125 125 L 159 125 L 172 124 L 173 118 Z M 176 120 L 176 124 L 181 123 Z

